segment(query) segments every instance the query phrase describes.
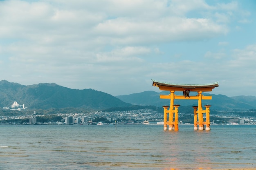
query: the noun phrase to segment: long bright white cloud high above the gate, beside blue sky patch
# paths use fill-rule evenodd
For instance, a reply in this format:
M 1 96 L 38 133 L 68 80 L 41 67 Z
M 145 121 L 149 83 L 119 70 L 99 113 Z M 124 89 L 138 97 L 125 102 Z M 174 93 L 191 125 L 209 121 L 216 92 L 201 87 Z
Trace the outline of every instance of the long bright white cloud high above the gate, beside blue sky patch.
M 225 34 L 228 29 L 207 19 L 168 17 L 153 22 L 128 18 L 107 20 L 95 31 L 102 36 L 101 41 L 125 45 L 200 40 Z

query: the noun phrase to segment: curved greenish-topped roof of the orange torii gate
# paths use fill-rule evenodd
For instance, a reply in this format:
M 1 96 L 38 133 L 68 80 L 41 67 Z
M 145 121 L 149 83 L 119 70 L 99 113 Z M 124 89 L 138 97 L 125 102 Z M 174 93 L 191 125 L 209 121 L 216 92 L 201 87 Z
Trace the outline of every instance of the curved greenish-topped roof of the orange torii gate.
M 153 80 L 153 86 L 159 88 L 163 91 L 212 91 L 213 88 L 218 87 L 219 82 L 209 83 L 209 84 L 174 84 L 158 82 Z

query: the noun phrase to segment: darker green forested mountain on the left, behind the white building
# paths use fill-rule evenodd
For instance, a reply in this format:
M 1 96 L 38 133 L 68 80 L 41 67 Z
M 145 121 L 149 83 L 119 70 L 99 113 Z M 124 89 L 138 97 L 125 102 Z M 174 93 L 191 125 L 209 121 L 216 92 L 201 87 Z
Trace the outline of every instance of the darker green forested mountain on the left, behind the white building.
M 93 89 L 70 89 L 54 83 L 21 85 L 6 80 L 0 81 L 0 107 L 11 107 L 16 101 L 25 107 L 36 109 L 49 108 L 88 108 L 106 109 L 127 107 L 131 104 Z

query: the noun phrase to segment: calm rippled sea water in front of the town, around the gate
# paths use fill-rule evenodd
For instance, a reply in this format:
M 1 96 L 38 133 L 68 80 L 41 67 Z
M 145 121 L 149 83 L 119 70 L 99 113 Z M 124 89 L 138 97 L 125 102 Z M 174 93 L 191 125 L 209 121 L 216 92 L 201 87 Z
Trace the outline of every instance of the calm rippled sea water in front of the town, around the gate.
M 0 125 L 0 170 L 256 167 L 256 126 Z

